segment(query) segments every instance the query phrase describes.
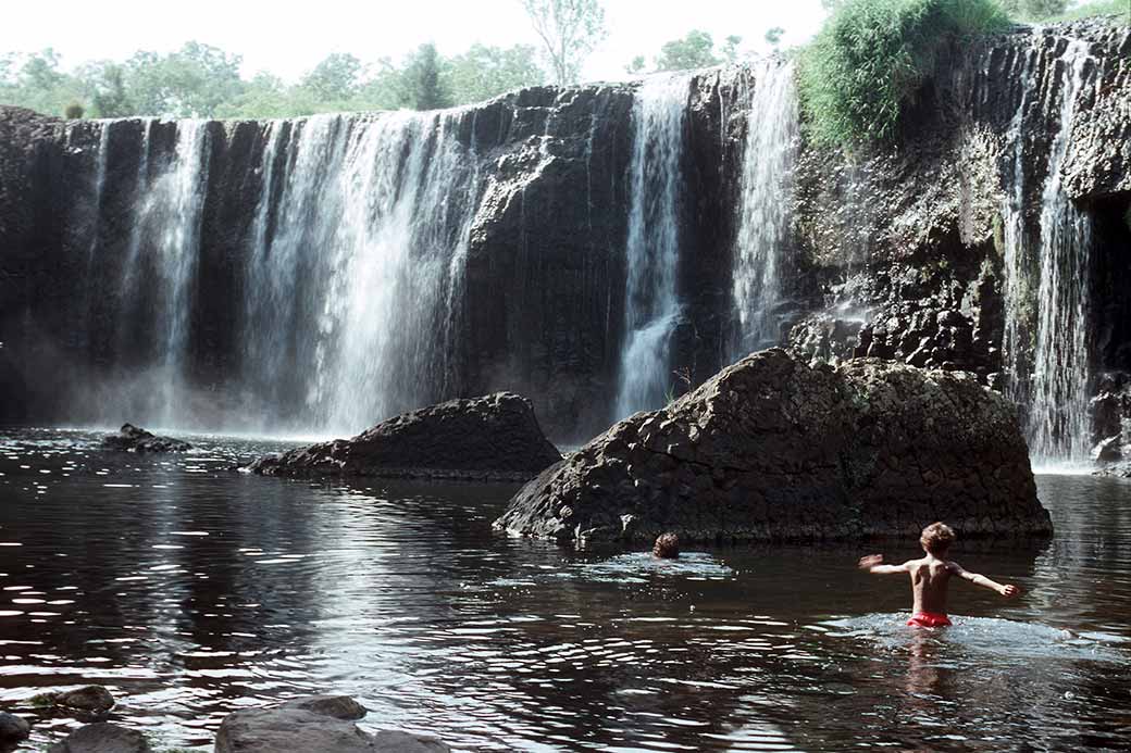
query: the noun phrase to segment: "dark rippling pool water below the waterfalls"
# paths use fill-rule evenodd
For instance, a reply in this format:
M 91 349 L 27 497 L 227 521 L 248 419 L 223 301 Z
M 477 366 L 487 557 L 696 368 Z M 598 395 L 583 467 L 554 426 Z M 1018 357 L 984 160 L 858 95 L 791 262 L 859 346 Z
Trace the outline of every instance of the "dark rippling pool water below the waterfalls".
M 0 707 L 100 683 L 200 751 L 233 709 L 321 691 L 464 750 L 1131 744 L 1125 482 L 1041 477 L 1051 543 L 955 552 L 1027 594 L 957 583 L 966 616 L 916 632 L 855 544 L 568 552 L 491 533 L 513 487 L 251 477 L 227 468 L 282 444 L 195 441 L 0 432 Z M 37 719 L 33 750 L 76 724 Z

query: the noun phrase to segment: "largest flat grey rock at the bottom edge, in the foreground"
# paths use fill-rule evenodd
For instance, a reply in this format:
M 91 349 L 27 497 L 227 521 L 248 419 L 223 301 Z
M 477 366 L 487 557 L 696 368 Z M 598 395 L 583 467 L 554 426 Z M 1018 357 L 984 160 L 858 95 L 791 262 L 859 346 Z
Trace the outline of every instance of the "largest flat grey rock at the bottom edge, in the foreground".
M 448 753 L 438 739 L 403 732 L 369 734 L 353 724 L 365 710 L 347 696 L 320 695 L 224 718 L 216 753 Z

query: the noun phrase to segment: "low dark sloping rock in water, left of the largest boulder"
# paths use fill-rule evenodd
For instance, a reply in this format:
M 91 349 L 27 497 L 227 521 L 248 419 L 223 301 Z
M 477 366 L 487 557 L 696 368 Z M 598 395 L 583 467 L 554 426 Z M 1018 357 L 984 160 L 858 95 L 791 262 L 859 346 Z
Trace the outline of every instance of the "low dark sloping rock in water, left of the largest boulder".
M 249 470 L 265 476 L 383 476 L 526 481 L 561 460 L 511 392 L 450 400 L 405 413 L 349 440 L 268 456 Z

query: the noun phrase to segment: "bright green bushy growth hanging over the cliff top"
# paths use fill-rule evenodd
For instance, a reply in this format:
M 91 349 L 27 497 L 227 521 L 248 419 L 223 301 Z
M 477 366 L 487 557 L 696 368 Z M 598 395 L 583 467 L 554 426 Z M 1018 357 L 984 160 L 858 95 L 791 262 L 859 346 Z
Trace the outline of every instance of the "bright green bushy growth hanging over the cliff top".
M 810 137 L 846 148 L 890 140 L 947 45 L 1009 23 L 994 0 L 847 0 L 801 57 Z

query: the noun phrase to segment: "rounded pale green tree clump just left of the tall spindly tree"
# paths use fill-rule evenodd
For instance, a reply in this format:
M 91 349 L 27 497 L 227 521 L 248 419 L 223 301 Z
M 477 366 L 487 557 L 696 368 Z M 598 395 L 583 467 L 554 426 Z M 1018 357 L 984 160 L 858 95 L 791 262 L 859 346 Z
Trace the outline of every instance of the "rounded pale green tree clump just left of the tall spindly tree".
M 489 47 L 473 44 L 448 61 L 448 88 L 456 104 L 482 102 L 503 92 L 545 83 L 534 47 Z

